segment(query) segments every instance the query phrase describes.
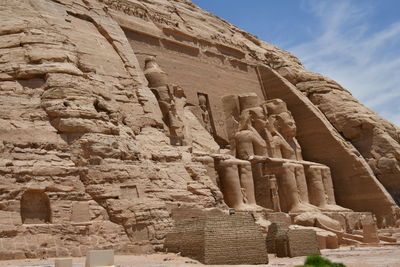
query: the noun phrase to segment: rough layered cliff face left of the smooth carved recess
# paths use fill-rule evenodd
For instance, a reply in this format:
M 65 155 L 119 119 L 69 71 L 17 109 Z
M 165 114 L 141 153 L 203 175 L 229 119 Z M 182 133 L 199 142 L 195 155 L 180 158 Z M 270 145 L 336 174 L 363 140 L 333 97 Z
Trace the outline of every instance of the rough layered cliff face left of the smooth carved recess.
M 0 13 L 1 259 L 152 251 L 174 206 L 224 206 L 188 148 L 169 145 L 102 4 L 3 1 Z

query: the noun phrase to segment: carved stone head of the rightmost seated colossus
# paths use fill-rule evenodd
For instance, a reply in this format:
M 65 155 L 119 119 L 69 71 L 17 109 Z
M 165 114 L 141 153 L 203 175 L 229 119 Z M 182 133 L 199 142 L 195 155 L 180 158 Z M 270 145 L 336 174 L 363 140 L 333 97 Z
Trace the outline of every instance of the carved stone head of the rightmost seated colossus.
M 286 103 L 281 99 L 272 99 L 267 101 L 266 107 L 276 130 L 286 137 L 296 137 L 296 122 L 287 109 Z

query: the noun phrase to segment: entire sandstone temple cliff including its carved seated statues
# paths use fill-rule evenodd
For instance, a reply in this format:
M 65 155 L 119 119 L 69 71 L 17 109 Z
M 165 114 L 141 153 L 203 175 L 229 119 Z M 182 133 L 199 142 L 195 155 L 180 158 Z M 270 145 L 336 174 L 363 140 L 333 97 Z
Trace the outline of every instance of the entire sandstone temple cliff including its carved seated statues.
M 1 260 L 399 241 L 399 127 L 290 53 L 188 0 L 0 17 Z

